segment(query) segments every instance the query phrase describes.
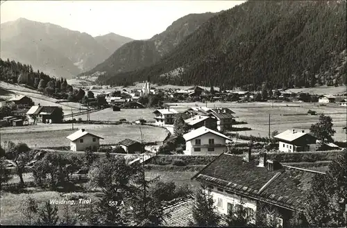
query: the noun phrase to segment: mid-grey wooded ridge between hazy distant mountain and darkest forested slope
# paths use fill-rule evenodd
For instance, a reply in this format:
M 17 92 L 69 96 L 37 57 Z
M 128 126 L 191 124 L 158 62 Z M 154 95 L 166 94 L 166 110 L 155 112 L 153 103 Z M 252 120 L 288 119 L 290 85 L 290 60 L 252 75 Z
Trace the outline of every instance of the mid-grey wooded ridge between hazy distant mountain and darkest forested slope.
M 110 58 L 101 62 L 94 69 L 81 73 L 80 76 L 91 76 L 93 73 L 110 75 L 149 67 L 158 62 L 163 55 L 169 53 L 184 40 L 187 35 L 194 32 L 199 26 L 208 21 L 212 12 L 191 14 L 174 21 L 164 32 L 153 36 L 149 40 L 135 40 L 121 46 Z

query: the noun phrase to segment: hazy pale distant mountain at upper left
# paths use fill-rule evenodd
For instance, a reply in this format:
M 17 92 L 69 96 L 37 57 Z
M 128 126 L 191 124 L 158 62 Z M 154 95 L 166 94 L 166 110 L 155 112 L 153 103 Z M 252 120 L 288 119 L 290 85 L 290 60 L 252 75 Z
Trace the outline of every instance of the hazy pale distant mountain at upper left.
M 1 24 L 0 57 L 31 64 L 52 76 L 73 78 L 92 69 L 124 44 L 121 41 L 109 50 L 97 40 L 87 33 L 49 22 L 19 18 Z

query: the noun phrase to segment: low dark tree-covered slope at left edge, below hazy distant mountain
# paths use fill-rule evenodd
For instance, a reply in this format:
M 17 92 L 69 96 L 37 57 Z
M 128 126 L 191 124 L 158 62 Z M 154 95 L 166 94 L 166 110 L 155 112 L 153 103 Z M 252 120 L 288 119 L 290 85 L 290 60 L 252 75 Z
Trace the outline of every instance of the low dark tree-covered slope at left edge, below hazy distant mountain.
M 72 92 L 73 88 L 64 78 L 51 78 L 40 71 L 33 71 L 31 65 L 2 60 L 0 58 L 0 81 L 24 84 L 44 94 L 59 98 L 59 95 Z

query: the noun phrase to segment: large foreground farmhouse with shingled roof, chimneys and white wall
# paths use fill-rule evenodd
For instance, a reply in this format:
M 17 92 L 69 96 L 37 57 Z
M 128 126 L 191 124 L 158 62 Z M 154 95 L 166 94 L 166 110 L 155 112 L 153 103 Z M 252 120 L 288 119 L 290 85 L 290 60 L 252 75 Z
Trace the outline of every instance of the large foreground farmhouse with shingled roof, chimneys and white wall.
M 287 227 L 294 211 L 305 210 L 307 190 L 317 174 L 325 175 L 267 160 L 266 153 L 254 161 L 248 152 L 244 158 L 223 153 L 192 179 L 208 184 L 219 213 L 243 208 L 255 224 L 255 213 L 260 211 L 269 226 L 274 222 Z

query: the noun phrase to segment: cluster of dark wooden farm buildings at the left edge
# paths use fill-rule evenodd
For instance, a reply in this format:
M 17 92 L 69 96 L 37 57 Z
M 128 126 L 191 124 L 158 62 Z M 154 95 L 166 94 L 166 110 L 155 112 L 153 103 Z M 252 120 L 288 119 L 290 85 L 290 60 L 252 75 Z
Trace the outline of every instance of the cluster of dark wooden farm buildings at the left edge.
M 5 116 L 0 121 L 1 126 L 22 126 L 24 123 L 60 123 L 62 109 L 58 106 L 35 105 L 28 96 L 15 96 L 1 102 L 1 107 L 13 107 L 12 116 Z

